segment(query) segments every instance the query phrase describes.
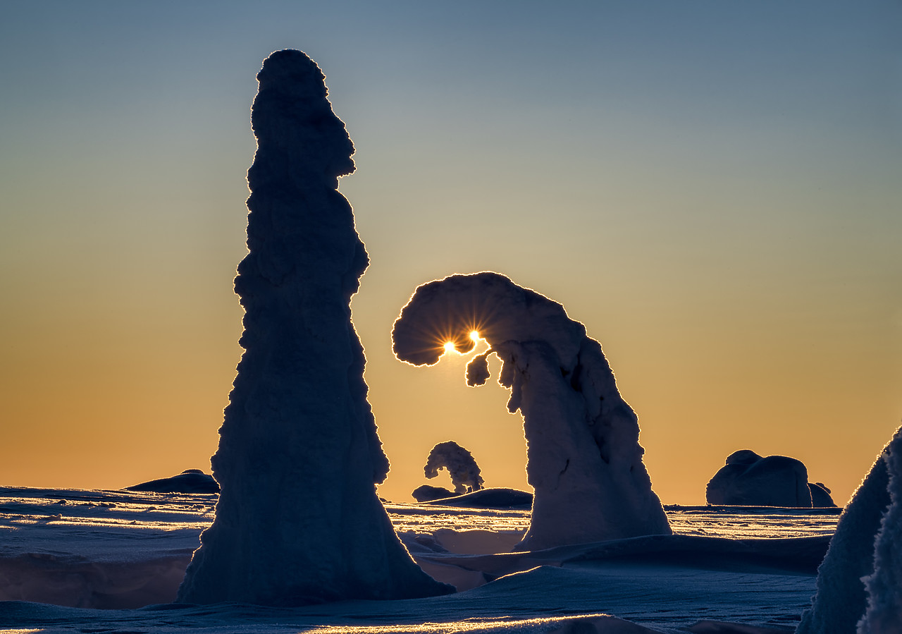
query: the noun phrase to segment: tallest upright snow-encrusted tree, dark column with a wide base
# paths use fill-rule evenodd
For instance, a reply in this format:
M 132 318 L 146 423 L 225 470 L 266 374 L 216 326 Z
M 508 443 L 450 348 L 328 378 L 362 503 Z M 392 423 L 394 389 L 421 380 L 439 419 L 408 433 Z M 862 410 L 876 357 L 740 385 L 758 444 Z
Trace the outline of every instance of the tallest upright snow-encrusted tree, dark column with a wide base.
M 413 562 L 375 494 L 389 463 L 349 308 L 368 257 L 336 191 L 354 171 L 354 145 L 307 55 L 276 51 L 257 79 L 249 253 L 235 278 L 244 355 L 212 459 L 222 487 L 216 519 L 179 601 L 303 605 L 452 592 Z

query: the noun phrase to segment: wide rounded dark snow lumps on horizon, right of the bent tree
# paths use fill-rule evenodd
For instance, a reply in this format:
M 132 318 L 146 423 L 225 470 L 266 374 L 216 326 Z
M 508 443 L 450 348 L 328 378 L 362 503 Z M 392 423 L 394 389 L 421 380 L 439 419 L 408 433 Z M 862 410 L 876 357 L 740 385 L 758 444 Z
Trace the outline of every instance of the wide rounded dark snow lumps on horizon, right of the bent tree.
M 727 456 L 705 490 L 708 504 L 759 507 L 834 507 L 830 489 L 808 482 L 805 464 L 787 456 L 741 449 Z M 816 500 L 816 502 L 815 502 Z

